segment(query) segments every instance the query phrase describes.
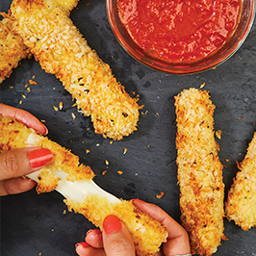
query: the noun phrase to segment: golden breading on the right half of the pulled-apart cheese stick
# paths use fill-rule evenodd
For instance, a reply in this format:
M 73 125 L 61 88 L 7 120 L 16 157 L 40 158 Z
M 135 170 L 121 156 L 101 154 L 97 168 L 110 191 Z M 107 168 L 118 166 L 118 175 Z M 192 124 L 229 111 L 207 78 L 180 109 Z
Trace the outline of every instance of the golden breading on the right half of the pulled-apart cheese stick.
M 121 203 L 110 203 L 105 197 L 95 194 L 88 196 L 83 203 L 64 201 L 69 211 L 74 210 L 75 213 L 84 215 L 100 229 L 104 218 L 108 215 L 114 214 L 122 220 L 132 235 L 137 256 L 155 255 L 159 246 L 166 241 L 166 229 L 160 222 L 142 213 L 132 201 L 121 200 Z

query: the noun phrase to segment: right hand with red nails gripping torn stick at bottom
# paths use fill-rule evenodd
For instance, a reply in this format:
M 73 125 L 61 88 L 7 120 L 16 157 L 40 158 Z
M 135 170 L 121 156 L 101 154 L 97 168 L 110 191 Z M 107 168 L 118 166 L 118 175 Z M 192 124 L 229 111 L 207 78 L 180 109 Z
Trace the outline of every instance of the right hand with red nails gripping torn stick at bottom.
M 183 255 L 191 252 L 189 237 L 185 229 L 164 210 L 156 205 L 134 199 L 134 205 L 145 214 L 157 219 L 166 226 L 167 242 L 163 251 L 156 256 Z M 108 216 L 103 221 L 103 231 L 92 229 L 87 233 L 86 242 L 76 244 L 79 256 L 134 256 L 135 248 L 125 225 L 115 216 Z

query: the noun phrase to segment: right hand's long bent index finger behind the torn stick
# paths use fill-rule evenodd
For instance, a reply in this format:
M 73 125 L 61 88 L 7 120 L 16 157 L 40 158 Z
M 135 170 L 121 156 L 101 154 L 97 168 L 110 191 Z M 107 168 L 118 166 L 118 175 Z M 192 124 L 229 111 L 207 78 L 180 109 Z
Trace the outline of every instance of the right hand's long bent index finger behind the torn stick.
M 166 226 L 168 232 L 167 242 L 164 243 L 165 255 L 188 254 L 191 252 L 188 233 L 173 218 L 169 217 L 160 207 L 142 202 L 141 200 L 133 200 L 134 205 L 145 214 L 155 218 Z

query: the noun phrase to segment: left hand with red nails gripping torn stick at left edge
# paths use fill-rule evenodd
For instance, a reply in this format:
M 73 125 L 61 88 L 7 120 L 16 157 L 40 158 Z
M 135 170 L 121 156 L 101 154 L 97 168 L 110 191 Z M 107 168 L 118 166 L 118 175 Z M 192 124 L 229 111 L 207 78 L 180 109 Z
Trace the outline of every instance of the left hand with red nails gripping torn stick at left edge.
M 0 103 L 0 115 L 14 117 L 38 134 L 48 133 L 37 117 L 24 110 Z M 0 195 L 26 192 L 34 188 L 36 182 L 22 176 L 38 170 L 51 160 L 51 151 L 38 147 L 18 148 L 0 153 Z

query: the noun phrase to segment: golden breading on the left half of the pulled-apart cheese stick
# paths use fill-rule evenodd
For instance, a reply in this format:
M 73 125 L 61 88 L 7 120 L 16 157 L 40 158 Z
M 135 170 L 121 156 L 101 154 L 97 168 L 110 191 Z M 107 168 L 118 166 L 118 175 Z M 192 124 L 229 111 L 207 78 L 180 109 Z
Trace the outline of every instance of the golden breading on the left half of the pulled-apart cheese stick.
M 53 160 L 46 166 L 46 169 L 52 169 L 48 175 L 55 176 L 52 172 L 55 169 L 62 169 L 68 174 L 66 180 L 69 181 L 92 179 L 95 176 L 90 166 L 80 164 L 78 156 L 69 150 L 46 137 L 39 136 L 33 129 L 28 129 L 15 119 L 0 115 L 0 151 L 29 145 L 48 148 L 52 151 Z M 48 186 L 47 180 L 44 181 L 44 179 L 47 179 L 47 175 L 41 176 L 38 182 L 38 192 L 51 192 L 58 186 L 58 179 L 51 186 Z

